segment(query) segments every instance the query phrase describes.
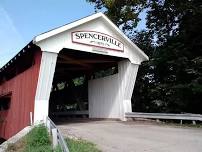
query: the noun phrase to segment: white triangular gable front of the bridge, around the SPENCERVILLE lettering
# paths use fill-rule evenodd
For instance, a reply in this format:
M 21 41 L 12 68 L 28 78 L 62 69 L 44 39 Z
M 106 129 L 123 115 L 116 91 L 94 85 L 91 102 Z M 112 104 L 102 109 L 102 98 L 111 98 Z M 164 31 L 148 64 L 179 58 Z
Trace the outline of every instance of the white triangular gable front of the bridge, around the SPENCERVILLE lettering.
M 74 41 L 75 33 L 96 34 L 100 37 L 114 39 L 120 49 L 107 42 L 100 40 L 86 39 Z M 96 36 L 97 36 L 96 35 Z M 98 36 L 98 37 L 99 37 Z M 92 38 L 92 37 L 91 37 Z M 112 40 L 113 41 L 113 40 Z M 89 43 L 94 43 L 90 45 Z M 40 34 L 33 39 L 42 51 L 59 53 L 63 48 L 75 49 L 91 53 L 105 54 L 110 56 L 128 58 L 134 64 L 141 64 L 148 60 L 148 56 L 138 48 L 115 24 L 112 23 L 103 13 L 93 14 L 70 24 Z M 97 45 L 95 45 L 95 43 Z M 103 46 L 100 46 L 99 43 Z M 105 47 L 104 45 L 107 45 Z M 115 49 L 114 49 L 115 48 Z

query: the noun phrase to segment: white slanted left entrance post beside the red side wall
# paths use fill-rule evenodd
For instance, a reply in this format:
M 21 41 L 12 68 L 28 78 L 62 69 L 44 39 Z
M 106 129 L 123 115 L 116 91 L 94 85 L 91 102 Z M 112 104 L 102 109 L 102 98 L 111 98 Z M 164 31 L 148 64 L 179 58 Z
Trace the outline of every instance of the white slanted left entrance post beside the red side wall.
M 43 52 L 34 104 L 34 123 L 45 122 L 57 61 L 57 53 Z

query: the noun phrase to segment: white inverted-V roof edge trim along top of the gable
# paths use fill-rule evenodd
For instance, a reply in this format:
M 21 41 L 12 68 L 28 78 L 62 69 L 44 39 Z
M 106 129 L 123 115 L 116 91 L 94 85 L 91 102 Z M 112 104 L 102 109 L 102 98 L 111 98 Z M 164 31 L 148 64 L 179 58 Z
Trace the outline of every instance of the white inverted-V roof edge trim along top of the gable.
M 38 43 L 40 41 L 43 41 L 47 38 L 50 38 L 54 35 L 57 35 L 59 33 L 62 33 L 64 31 L 67 31 L 67 30 L 70 30 L 72 28 L 75 28 L 79 25 L 82 25 L 84 23 L 87 23 L 89 21 L 92 21 L 92 20 L 95 20 L 95 19 L 98 19 L 98 18 L 103 18 L 108 24 L 110 24 L 111 27 L 113 27 L 114 30 L 116 30 L 117 33 L 119 33 L 119 35 L 125 39 L 133 48 L 135 48 L 135 50 L 137 50 L 139 52 L 139 54 L 143 57 L 143 60 L 149 60 L 149 57 L 139 48 L 137 47 L 110 19 L 108 19 L 103 13 L 96 13 L 96 14 L 93 14 L 91 16 L 88 16 L 88 17 L 85 17 L 83 19 L 80 19 L 80 20 L 77 20 L 75 22 L 72 22 L 72 23 L 69 23 L 69 24 L 66 24 L 64 26 L 61 26 L 59 28 L 56 28 L 56 29 L 53 29 L 51 31 L 48 31 L 46 33 L 42 33 L 38 36 L 36 36 L 34 39 L 33 39 L 33 43 Z

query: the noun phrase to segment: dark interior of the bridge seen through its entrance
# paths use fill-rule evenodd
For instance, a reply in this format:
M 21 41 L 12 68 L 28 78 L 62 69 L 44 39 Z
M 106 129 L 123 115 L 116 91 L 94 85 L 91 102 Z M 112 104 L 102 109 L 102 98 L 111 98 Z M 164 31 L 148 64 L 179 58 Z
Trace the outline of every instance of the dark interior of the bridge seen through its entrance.
M 121 60 L 123 58 L 63 49 L 57 59 L 49 116 L 88 117 L 88 80 L 117 73 Z

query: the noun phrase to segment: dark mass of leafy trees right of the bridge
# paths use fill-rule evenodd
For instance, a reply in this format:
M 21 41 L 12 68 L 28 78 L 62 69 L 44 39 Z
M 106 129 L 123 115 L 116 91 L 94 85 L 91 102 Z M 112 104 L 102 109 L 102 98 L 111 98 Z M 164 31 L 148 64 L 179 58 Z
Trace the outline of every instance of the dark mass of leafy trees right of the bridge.
M 133 110 L 202 113 L 202 1 L 88 1 L 150 57 L 138 71 Z M 143 9 L 147 28 L 135 32 Z

